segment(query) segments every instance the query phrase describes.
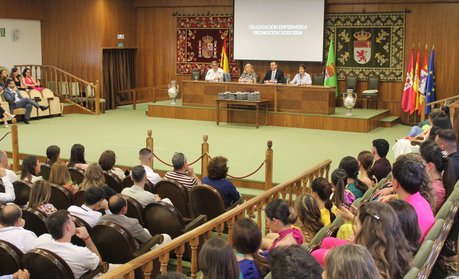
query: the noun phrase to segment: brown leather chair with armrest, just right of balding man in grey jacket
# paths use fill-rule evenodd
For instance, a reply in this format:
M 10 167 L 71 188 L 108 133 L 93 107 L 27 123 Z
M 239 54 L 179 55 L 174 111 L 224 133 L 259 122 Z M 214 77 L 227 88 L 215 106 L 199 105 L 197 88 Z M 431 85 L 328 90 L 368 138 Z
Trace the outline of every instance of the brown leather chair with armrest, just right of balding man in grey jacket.
M 170 204 L 164 201 L 155 201 L 147 204 L 144 208 L 143 219 L 145 228 L 148 229 L 151 235 L 168 234 L 172 239 L 186 234 L 192 229 L 196 229 L 207 221 L 206 215 L 199 215 L 196 219 L 185 223 L 182 214 Z M 197 253 L 201 250 L 204 239 L 200 238 Z M 187 242 L 185 244 L 185 259 L 191 259 L 191 246 Z

